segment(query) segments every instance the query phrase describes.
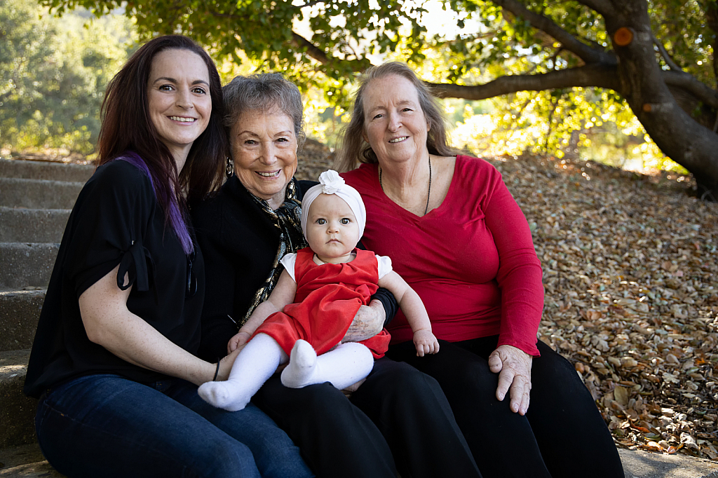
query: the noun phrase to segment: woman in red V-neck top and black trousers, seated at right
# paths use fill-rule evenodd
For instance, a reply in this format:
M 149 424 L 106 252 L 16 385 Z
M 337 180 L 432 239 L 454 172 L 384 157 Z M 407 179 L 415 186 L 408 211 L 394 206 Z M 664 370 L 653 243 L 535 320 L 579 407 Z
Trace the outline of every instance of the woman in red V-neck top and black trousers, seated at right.
M 421 296 L 441 346 L 416 360 L 399 313 L 387 355 L 439 381 L 482 475 L 623 477 L 587 388 L 536 340 L 544 288 L 526 218 L 494 167 L 448 146 L 404 64 L 361 80 L 336 167 L 358 163 L 342 176 L 366 205 L 362 241 Z

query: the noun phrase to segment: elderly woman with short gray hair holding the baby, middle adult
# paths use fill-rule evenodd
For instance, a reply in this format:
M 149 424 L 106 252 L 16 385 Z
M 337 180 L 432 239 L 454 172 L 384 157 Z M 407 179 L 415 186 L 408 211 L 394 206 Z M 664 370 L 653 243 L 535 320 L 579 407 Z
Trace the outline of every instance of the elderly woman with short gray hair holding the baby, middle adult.
M 307 244 L 299 217 L 314 182 L 297 181 L 302 97 L 278 74 L 237 77 L 223 88 L 230 139 L 228 179 L 193 205 L 205 257 L 207 294 L 200 357 L 222 357 L 258 304 L 276 286 L 286 253 Z M 363 306 L 345 342 L 372 337 L 396 312 L 380 291 Z M 436 380 L 405 363 L 376 360 L 347 398 L 330 383 L 286 388 L 279 375 L 252 399 L 274 418 L 320 477 L 480 477 Z

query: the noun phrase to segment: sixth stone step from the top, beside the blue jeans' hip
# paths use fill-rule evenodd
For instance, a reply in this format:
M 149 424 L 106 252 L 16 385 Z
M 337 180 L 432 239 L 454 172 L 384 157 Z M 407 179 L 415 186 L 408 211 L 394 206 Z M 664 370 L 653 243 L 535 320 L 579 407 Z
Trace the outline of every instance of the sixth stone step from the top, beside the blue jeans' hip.
M 0 449 L 36 441 L 37 400 L 23 395 L 30 350 L 0 352 Z

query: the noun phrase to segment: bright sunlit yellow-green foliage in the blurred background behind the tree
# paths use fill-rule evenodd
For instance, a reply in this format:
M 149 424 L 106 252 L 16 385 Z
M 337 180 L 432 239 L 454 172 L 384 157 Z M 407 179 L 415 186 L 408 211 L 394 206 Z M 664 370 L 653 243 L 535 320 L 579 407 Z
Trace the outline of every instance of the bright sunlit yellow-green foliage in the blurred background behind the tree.
M 652 7 L 660 17 L 659 2 Z M 600 18 L 587 15 L 587 11 L 564 14 L 580 19 L 575 29 L 582 37 L 606 42 L 597 28 Z M 432 12 L 425 15 L 431 17 Z M 658 26 L 661 33 L 680 38 L 673 31 L 679 28 L 680 19 L 663 20 Z M 370 60 L 376 64 L 409 59 L 427 81 L 465 83 L 565 66 L 561 62 L 567 60 L 553 53 L 555 45 L 544 48 L 542 39 L 527 40 L 531 32 L 526 25 L 503 18 L 493 6 L 457 14 L 454 24 L 465 27 L 469 22 L 473 22 L 472 29 L 457 30 L 458 37 L 456 33 L 438 37 L 431 29 L 417 32 L 422 44 L 407 30 L 403 37 L 390 39 L 393 49 L 377 48 Z M 66 11 L 58 18 L 32 0 L 2 0 L 0 34 L 0 155 L 54 151 L 92 159 L 104 89 L 141 39 L 134 23 L 119 14 L 93 19 L 83 9 Z M 494 47 L 498 42 L 504 44 L 501 51 Z M 535 44 L 531 49 L 522 46 L 531 42 Z M 505 52 L 505 45 L 513 49 L 511 55 Z M 694 68 L 702 66 L 705 71 L 698 73 L 709 78 L 706 52 L 695 44 L 669 46 L 677 61 Z M 220 58 L 218 68 L 225 82 L 234 75 L 266 71 L 273 64 L 241 51 L 220 55 L 218 48 L 210 46 L 208 50 Z M 307 135 L 336 147 L 348 121 L 353 85 L 328 78 L 311 64 L 287 62 L 281 72 L 302 88 Z M 447 99 L 442 103 L 454 145 L 473 154 L 529 153 L 684 173 L 661 154 L 625 102 L 608 90 L 521 92 L 491 100 Z

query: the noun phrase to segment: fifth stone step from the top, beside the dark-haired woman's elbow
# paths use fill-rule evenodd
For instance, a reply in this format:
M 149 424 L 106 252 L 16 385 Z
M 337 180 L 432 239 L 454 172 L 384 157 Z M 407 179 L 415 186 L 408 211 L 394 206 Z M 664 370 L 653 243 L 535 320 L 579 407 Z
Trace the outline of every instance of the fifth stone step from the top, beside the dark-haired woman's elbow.
M 0 352 L 32 347 L 44 301 L 45 289 L 0 290 Z

